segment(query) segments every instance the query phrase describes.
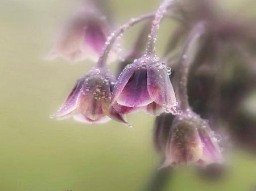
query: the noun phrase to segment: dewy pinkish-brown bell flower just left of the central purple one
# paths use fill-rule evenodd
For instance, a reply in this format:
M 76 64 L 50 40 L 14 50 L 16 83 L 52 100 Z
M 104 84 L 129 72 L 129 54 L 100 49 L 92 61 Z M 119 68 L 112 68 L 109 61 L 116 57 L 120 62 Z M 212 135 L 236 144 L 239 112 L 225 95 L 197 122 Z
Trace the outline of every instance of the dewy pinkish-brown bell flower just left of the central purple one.
M 55 117 L 73 117 L 77 121 L 89 123 L 106 122 L 113 118 L 126 123 L 123 114 L 110 107 L 113 84 L 113 75 L 107 69 L 94 67 L 85 77 L 77 80 Z

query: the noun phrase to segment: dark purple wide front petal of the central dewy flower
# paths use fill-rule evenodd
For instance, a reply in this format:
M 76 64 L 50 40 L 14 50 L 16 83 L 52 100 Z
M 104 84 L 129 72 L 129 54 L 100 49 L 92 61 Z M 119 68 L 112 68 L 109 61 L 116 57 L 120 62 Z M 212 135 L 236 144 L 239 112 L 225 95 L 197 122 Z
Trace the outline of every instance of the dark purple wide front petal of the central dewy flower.
M 137 69 L 123 88 L 117 103 L 127 107 L 141 107 L 151 102 L 147 91 L 147 69 Z

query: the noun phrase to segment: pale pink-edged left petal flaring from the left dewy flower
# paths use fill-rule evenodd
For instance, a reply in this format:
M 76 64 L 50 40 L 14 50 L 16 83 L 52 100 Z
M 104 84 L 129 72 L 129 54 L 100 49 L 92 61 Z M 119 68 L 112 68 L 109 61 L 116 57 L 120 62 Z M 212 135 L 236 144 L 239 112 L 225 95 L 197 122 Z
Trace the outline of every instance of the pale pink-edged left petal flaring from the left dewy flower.
M 65 117 L 69 113 L 75 111 L 79 106 L 79 100 L 81 97 L 81 89 L 84 84 L 84 78 L 77 80 L 75 87 L 68 95 L 67 99 L 64 101 L 64 104 L 60 107 L 59 111 L 55 114 L 55 117 Z

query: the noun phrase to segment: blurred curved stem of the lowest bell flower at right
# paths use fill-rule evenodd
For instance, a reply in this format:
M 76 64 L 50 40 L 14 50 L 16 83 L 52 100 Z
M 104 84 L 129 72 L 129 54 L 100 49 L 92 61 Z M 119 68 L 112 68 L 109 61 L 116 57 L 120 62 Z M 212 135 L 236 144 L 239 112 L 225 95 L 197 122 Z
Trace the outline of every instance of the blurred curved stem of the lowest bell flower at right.
M 180 60 L 180 65 L 177 69 L 177 88 L 178 94 L 180 98 L 180 109 L 185 111 L 189 109 L 188 103 L 188 74 L 191 63 L 193 62 L 193 48 L 195 48 L 195 43 L 197 39 L 202 35 L 204 32 L 204 24 L 198 23 L 192 29 L 191 33 L 188 36 L 188 41 L 185 43 L 183 53 Z

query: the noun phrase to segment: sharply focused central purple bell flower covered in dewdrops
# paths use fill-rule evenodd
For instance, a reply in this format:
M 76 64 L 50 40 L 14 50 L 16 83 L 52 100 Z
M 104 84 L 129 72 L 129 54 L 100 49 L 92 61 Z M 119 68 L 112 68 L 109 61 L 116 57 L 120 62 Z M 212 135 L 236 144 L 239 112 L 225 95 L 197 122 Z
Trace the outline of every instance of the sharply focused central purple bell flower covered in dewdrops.
M 174 111 L 177 103 L 170 74 L 171 69 L 160 63 L 158 57 L 144 55 L 134 60 L 119 75 L 112 104 L 116 101 L 126 107 L 146 107 L 148 112 L 158 114 L 163 108 Z

